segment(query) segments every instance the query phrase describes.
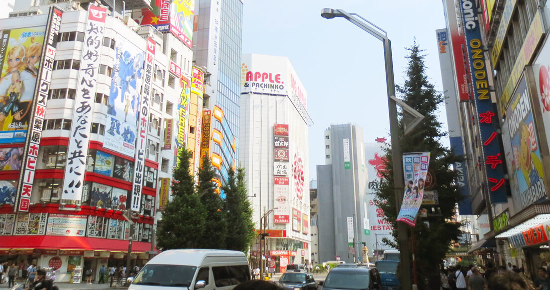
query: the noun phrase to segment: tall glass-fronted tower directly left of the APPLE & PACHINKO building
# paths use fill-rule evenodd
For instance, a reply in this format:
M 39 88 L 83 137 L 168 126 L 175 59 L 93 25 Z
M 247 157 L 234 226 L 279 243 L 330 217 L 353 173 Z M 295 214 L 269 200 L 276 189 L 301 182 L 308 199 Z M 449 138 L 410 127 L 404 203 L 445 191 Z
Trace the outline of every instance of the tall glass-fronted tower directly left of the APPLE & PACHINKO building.
M 193 62 L 205 71 L 201 156 L 209 154 L 218 180 L 238 165 L 243 1 L 197 0 Z

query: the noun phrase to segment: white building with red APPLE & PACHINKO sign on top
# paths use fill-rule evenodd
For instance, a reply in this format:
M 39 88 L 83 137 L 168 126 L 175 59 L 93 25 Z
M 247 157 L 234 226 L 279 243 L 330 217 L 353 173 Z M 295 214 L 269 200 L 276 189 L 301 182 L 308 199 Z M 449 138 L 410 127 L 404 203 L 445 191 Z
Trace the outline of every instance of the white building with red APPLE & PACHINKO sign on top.
M 244 54 L 241 69 L 240 165 L 256 229 L 270 234 L 261 251 L 285 271 L 311 261 L 307 93 L 286 57 Z M 259 264 L 259 253 L 253 258 Z

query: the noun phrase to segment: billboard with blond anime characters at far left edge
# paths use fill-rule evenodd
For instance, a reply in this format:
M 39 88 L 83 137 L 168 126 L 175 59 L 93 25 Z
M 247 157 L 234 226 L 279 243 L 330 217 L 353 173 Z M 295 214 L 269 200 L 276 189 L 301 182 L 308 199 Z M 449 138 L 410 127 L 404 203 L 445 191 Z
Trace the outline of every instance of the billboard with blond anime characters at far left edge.
M 45 31 L 0 32 L 0 143 L 25 142 Z

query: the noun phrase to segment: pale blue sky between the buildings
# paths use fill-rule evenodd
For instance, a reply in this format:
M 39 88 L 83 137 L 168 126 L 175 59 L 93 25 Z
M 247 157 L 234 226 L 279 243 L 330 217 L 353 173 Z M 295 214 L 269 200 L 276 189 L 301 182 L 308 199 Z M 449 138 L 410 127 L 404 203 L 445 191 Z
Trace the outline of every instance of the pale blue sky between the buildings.
M 445 27 L 441 0 L 245 0 L 243 53 L 288 57 L 307 91 L 314 122 L 309 127 L 310 179 L 316 177 L 316 165 L 324 164 L 324 130 L 331 124 L 362 127 L 365 142 L 389 139 L 382 42 L 344 18 L 322 18 L 322 8 L 357 13 L 387 31 L 397 84 L 405 77 L 405 48 L 416 37 L 428 54 L 427 75 L 442 91 L 435 32 Z

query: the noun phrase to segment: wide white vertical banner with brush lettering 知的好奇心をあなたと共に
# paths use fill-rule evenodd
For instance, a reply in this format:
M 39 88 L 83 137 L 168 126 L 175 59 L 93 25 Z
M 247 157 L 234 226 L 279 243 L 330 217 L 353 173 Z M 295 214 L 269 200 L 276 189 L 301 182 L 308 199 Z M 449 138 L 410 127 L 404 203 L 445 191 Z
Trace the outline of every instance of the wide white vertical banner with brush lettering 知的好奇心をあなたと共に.
M 84 172 L 92 127 L 92 105 L 97 90 L 99 59 L 107 8 L 90 5 L 84 35 L 82 59 L 76 86 L 73 121 L 67 149 L 67 166 L 63 178 L 62 199 L 80 200 L 84 189 Z

